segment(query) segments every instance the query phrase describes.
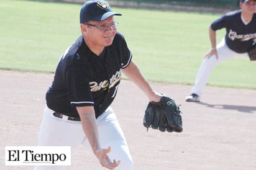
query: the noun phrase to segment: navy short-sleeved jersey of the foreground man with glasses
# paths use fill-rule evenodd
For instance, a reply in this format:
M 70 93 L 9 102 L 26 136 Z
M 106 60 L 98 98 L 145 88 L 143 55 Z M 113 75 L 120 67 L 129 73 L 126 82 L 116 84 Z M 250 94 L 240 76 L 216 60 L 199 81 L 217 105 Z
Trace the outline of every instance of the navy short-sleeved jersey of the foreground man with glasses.
M 47 106 L 65 115 L 78 117 L 76 107 L 94 106 L 96 117 L 111 105 L 121 80 L 121 70 L 132 54 L 117 32 L 112 45 L 95 55 L 79 37 L 60 58 L 52 86 L 46 94 Z

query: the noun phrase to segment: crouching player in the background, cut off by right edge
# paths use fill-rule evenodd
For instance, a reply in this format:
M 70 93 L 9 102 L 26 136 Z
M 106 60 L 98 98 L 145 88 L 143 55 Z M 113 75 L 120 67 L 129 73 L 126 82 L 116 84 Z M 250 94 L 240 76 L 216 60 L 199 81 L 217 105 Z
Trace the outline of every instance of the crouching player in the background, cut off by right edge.
M 248 51 L 256 44 L 256 3 L 240 0 L 240 10 L 232 11 L 215 20 L 209 27 L 211 50 L 199 68 L 187 102 L 199 102 L 212 69 L 232 57 L 249 59 Z M 226 29 L 226 35 L 216 46 L 216 30 Z

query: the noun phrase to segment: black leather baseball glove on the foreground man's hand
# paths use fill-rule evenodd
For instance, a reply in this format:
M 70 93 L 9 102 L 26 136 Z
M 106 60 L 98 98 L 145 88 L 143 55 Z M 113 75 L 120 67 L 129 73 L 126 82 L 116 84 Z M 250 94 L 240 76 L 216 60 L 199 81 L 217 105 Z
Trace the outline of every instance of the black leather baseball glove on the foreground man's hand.
M 168 96 L 163 96 L 160 102 L 149 102 L 143 119 L 144 127 L 158 129 L 161 132 L 182 132 L 180 105 Z

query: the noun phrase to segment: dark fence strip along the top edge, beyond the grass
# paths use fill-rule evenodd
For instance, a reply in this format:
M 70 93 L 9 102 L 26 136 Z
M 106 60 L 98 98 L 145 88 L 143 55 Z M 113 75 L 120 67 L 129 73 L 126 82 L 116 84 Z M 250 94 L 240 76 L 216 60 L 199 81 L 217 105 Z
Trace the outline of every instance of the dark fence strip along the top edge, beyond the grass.
M 83 4 L 86 0 L 34 0 Z M 240 0 L 107 0 L 112 7 L 224 13 L 239 9 Z

